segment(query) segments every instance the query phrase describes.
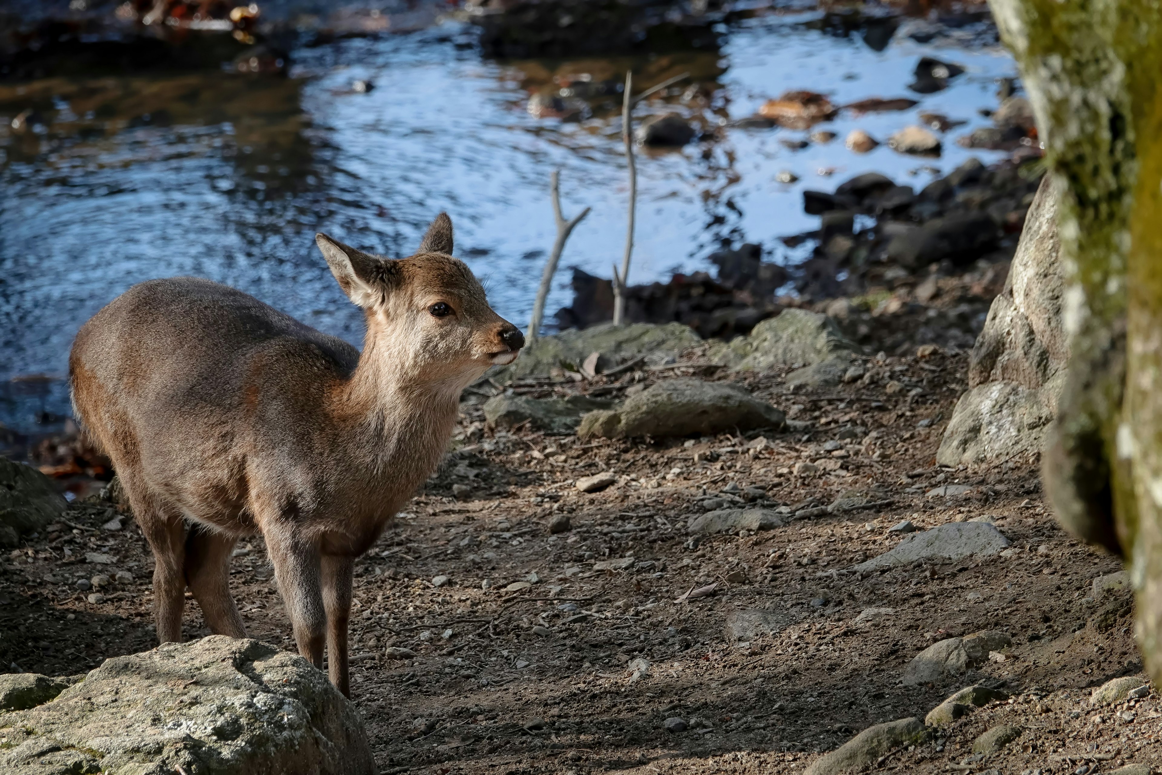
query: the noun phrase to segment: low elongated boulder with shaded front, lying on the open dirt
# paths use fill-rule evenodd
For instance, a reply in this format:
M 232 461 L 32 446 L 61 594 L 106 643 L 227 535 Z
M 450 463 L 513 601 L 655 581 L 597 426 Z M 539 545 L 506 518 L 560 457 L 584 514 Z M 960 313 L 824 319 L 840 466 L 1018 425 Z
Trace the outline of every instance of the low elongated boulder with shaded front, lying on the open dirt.
M 675 379 L 658 382 L 610 411 L 591 411 L 581 419 L 581 438 L 664 438 L 726 430 L 781 429 L 783 412 L 726 382 Z

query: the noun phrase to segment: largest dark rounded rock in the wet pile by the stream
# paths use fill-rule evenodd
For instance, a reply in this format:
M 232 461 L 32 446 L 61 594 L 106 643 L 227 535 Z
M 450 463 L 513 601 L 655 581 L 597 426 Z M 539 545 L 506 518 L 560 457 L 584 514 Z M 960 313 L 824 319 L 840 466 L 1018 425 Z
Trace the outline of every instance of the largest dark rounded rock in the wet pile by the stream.
M 998 239 L 997 225 L 987 213 L 953 213 L 899 230 L 888 243 L 887 254 L 913 270 L 944 259 L 967 264 L 995 250 Z

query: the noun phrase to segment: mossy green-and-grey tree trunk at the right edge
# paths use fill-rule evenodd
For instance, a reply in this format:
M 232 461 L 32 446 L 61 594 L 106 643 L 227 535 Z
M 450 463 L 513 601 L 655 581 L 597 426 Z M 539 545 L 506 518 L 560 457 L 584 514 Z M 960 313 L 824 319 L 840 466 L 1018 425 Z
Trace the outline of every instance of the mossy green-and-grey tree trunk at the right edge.
M 990 0 L 1060 196 L 1071 360 L 1042 468 L 1121 553 L 1162 682 L 1162 0 Z

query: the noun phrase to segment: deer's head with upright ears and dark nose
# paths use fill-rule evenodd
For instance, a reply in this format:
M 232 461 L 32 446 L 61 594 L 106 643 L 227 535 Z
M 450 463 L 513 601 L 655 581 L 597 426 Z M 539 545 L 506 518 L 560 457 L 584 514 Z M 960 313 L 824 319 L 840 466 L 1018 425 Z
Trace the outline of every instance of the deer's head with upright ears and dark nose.
M 388 259 L 315 235 L 347 299 L 365 310 L 367 347 L 422 382 L 465 385 L 516 360 L 524 336 L 488 306 L 472 270 L 452 257 L 452 220 L 440 213 L 415 256 Z

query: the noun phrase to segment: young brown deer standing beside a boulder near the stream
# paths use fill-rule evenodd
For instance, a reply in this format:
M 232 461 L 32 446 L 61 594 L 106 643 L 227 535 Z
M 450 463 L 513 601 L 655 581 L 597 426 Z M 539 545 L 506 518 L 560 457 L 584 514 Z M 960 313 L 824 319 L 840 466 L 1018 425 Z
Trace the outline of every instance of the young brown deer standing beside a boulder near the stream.
M 81 326 L 77 418 L 113 460 L 153 550 L 162 643 L 188 586 L 215 633 L 244 637 L 229 590 L 242 536 L 261 533 L 299 653 L 347 684 L 354 558 L 435 469 L 460 392 L 524 337 L 452 258 L 440 214 L 390 260 L 317 235 L 364 309 L 360 354 L 242 292 L 196 278 L 136 285 Z

